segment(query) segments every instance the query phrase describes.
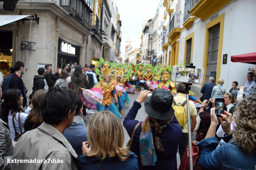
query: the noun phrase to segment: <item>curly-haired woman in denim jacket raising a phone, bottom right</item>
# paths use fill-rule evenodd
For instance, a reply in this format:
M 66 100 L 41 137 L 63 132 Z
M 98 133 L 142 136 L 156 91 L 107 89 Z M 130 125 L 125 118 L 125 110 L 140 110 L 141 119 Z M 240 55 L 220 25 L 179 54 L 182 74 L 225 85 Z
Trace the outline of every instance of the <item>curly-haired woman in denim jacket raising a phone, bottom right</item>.
M 232 114 L 225 111 L 217 118 L 215 108 L 211 109 L 211 125 L 206 138 L 197 146 L 200 148 L 199 165 L 205 169 L 254 169 L 256 163 L 256 95 L 250 95 L 236 106 L 234 133 L 230 129 Z M 225 122 L 222 120 L 224 119 Z M 215 138 L 218 121 L 225 132 L 218 146 Z

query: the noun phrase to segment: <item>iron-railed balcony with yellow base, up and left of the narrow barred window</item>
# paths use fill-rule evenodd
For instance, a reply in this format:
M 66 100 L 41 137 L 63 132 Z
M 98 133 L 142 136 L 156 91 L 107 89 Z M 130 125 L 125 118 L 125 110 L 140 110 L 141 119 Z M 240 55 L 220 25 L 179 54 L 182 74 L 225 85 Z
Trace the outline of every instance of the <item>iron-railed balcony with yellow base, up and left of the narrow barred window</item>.
M 181 32 L 182 27 L 182 15 L 174 14 L 173 19 L 169 23 L 169 36 L 170 40 L 173 40 L 177 34 Z

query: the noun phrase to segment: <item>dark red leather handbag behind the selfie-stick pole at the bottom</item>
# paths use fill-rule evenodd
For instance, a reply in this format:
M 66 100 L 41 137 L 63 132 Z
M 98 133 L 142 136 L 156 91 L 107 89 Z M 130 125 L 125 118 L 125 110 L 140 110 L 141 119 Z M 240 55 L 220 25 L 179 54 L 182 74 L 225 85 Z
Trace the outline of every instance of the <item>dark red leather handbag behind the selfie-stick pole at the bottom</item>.
M 192 157 L 193 157 L 193 170 L 204 170 L 202 166 L 198 164 L 199 148 L 192 142 Z M 180 167 L 178 170 L 189 170 L 189 148 L 187 146 L 184 156 L 182 158 Z

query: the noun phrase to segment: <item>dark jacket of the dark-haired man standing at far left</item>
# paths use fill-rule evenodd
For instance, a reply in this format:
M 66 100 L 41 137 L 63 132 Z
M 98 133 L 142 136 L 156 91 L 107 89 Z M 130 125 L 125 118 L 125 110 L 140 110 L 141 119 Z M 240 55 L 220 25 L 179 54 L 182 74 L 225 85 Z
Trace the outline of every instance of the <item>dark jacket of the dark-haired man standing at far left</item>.
M 27 95 L 25 92 L 24 83 L 22 79 L 15 73 L 11 73 L 4 78 L 4 82 L 2 84 L 2 94 L 4 95 L 5 91 L 11 88 L 19 89 L 21 91 L 23 97 L 22 106 L 24 108 L 27 104 Z

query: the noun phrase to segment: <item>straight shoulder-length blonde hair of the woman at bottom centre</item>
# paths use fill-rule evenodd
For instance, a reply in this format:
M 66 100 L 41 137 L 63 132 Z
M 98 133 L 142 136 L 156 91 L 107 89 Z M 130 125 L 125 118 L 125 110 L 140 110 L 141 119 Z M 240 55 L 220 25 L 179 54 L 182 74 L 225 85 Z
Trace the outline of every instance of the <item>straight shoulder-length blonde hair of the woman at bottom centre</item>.
M 91 147 L 86 156 L 96 156 L 105 159 L 117 156 L 120 161 L 126 161 L 130 155 L 128 147 L 123 146 L 123 127 L 119 119 L 110 111 L 95 113 L 88 128 L 88 143 Z

